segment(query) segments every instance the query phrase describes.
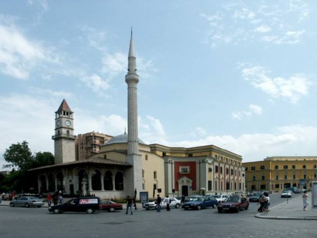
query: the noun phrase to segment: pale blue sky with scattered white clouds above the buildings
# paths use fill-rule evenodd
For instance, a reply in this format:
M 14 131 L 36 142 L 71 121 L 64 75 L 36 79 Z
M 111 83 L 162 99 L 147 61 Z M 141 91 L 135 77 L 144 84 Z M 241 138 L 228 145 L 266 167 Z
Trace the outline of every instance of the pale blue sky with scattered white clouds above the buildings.
M 139 137 L 216 145 L 244 162 L 317 155 L 317 2 L 0 2 L 0 166 L 12 143 L 54 153 L 63 98 L 75 134 L 127 126 L 137 54 Z

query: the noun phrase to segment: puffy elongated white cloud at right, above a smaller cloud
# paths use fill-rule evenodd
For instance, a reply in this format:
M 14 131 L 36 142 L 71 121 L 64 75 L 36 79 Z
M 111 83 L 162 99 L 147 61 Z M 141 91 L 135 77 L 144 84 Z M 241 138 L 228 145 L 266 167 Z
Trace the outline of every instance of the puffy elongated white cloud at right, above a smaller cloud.
M 269 72 L 260 66 L 244 68 L 241 73 L 256 89 L 261 89 L 270 97 L 282 97 L 292 103 L 297 103 L 302 96 L 307 95 L 311 84 L 303 74 L 295 74 L 289 78 L 270 77 Z

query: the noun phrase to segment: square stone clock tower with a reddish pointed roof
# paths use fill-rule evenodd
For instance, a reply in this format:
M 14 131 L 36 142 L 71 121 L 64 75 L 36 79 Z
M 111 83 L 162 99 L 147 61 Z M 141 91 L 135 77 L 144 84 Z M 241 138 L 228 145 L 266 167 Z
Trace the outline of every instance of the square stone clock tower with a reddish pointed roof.
M 75 139 L 73 112 L 63 99 L 55 112 L 54 140 L 55 164 L 75 161 Z

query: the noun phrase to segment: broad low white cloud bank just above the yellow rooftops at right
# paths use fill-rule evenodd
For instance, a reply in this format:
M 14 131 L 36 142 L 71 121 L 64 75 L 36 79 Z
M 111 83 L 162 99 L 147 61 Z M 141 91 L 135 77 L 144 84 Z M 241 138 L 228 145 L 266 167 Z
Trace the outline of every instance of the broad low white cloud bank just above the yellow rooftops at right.
M 199 140 L 169 143 L 169 146 L 223 146 L 242 155 L 243 162 L 262 160 L 267 156 L 313 156 L 317 154 L 317 126 L 290 125 L 274 128 L 275 133 L 207 136 Z

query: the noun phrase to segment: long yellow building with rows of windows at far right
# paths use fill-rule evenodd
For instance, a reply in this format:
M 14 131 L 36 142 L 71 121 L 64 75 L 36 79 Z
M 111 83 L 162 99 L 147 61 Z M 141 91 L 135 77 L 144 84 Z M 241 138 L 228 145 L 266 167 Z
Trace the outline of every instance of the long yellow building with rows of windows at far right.
M 281 191 L 288 187 L 311 188 L 317 181 L 317 157 L 279 156 L 263 161 L 246 162 L 245 182 L 248 191 Z

